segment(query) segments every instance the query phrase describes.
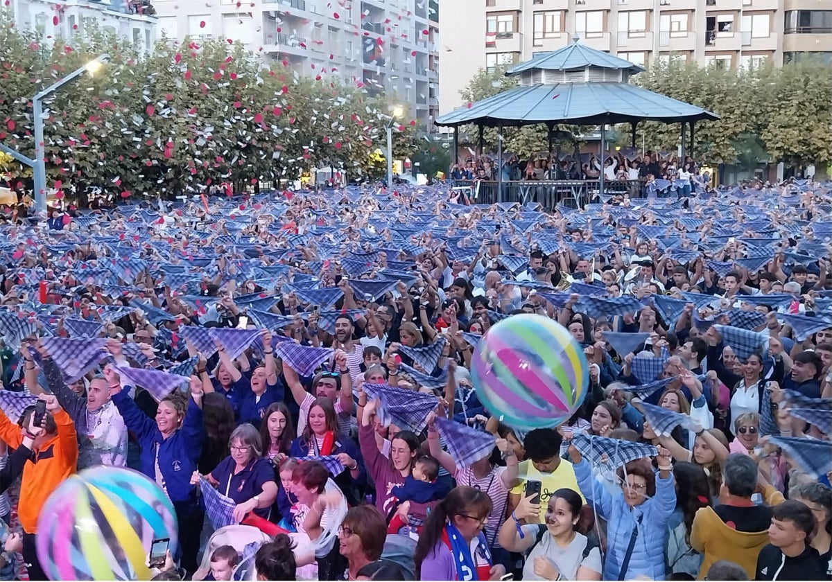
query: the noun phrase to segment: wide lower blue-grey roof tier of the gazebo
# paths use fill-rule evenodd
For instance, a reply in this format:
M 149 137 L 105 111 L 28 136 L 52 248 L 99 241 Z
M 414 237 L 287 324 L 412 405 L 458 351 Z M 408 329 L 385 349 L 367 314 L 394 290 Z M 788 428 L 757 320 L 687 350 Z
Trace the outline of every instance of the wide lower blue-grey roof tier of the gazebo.
M 470 106 L 439 116 L 438 126 L 469 123 L 483 126 L 528 126 L 537 123 L 576 125 L 632 121 L 681 123 L 719 116 L 626 83 L 582 82 L 518 86 Z

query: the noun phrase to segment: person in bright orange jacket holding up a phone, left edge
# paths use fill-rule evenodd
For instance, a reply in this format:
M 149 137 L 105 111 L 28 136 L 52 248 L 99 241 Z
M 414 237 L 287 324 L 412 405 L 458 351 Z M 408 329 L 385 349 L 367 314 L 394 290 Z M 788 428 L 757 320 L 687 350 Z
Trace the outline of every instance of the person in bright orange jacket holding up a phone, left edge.
M 0 412 L 0 440 L 14 449 L 28 443 L 32 451 L 22 469 L 17 504 L 17 519 L 23 528 L 22 554 L 29 580 L 47 580 L 35 550 L 37 516 L 52 491 L 75 472 L 78 462 L 77 433 L 72 418 L 51 394 L 41 394 L 38 402 L 42 404 L 23 411 L 19 425 Z M 38 408 L 40 412 L 37 412 Z M 35 418 L 36 412 L 41 417 L 40 422 Z M 34 434 L 32 425 L 43 427 L 42 432 Z

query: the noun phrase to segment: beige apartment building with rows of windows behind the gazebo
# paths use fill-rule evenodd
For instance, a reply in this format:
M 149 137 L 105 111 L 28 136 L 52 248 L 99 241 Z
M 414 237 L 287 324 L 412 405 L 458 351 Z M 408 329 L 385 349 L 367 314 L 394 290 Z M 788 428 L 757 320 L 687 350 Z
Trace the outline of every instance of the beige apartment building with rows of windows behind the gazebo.
M 443 112 L 480 69 L 526 61 L 574 36 L 649 67 L 781 64 L 812 54 L 832 65 L 829 0 L 456 0 L 443 2 L 439 37 Z

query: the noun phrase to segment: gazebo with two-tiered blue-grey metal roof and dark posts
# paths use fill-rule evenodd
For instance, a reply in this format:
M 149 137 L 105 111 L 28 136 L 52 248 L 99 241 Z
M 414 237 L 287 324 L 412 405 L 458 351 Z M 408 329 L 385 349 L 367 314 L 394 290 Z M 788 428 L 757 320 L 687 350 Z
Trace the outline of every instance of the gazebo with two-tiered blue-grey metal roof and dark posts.
M 582 45 L 577 37 L 572 44 L 557 51 L 544 52 L 532 60 L 511 67 L 506 76 L 519 76 L 519 86 L 439 116 L 438 126 L 453 127 L 453 154 L 458 155 L 459 126 L 476 125 L 482 149 L 483 127 L 545 124 L 549 129 L 549 150 L 552 131 L 559 123 L 579 126 L 601 126 L 601 151 L 606 147 L 605 126 L 618 123 L 631 125 L 632 145 L 636 145 L 636 126 L 640 121 L 661 121 L 681 124 L 682 159 L 685 156 L 686 124 L 691 124 L 691 145 L 694 125 L 699 120 L 718 120 L 711 111 L 692 106 L 671 97 L 630 85 L 630 77 L 645 69 L 606 52 Z M 503 161 L 503 140 L 498 139 L 498 160 Z M 603 160 L 602 160 L 603 164 Z M 498 183 L 502 167 L 498 167 Z M 604 190 L 603 167 L 599 192 Z M 502 193 L 502 187 L 498 187 Z

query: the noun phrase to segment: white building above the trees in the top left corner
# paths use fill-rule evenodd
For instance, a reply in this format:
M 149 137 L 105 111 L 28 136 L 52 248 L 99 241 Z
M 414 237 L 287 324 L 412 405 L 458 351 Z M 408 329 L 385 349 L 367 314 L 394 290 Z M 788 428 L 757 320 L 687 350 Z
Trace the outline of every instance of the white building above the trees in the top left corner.
M 47 40 L 72 38 L 97 26 L 131 41 L 140 51 L 156 44 L 156 17 L 150 0 L 12 0 L 9 9 L 21 30 L 40 30 Z

